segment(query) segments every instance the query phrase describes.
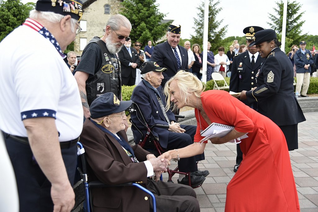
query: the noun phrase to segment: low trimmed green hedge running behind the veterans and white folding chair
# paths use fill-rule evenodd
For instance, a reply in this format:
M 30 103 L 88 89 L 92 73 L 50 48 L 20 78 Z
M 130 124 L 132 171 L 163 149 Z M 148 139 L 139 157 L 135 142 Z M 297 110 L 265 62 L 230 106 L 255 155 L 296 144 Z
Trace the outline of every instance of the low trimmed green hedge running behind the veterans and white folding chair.
M 230 78 L 225 77 L 225 81 L 228 85 L 230 85 Z M 295 81 L 296 78 L 295 78 Z M 218 81 L 218 86 L 223 86 L 224 82 Z M 206 89 L 205 90 L 212 90 L 214 86 L 213 80 L 210 80 L 206 83 Z M 122 100 L 127 101 L 130 100 L 131 94 L 136 86 L 126 86 L 123 85 L 121 88 L 121 93 L 122 93 Z M 226 91 L 229 91 L 229 89 L 225 89 Z M 310 77 L 310 84 L 308 88 L 308 94 L 318 94 L 318 77 Z

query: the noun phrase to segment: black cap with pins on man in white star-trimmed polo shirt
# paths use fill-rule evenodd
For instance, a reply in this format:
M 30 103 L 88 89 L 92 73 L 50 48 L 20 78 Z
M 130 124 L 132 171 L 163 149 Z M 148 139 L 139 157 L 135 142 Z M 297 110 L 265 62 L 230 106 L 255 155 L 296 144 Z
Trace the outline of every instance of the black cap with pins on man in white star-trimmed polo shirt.
M 83 15 L 83 3 L 74 0 L 38 0 L 35 10 L 43 12 L 54 12 L 63 16 L 70 15 L 72 18 L 80 21 Z

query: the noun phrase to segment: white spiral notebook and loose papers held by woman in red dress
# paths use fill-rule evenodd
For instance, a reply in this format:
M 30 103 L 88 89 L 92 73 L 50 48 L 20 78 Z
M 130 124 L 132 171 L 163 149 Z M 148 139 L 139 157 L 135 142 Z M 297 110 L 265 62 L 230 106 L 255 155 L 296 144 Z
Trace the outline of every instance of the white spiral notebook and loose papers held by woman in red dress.
M 213 137 L 223 137 L 229 132 L 231 132 L 232 129 L 234 129 L 233 126 L 213 122 L 210 124 L 209 127 L 207 127 L 206 129 L 204 129 L 204 131 L 202 131 L 201 136 L 205 136 L 205 137 L 200 141 L 200 143 L 203 143 L 204 141 L 207 141 Z M 240 143 L 241 139 L 248 137 L 246 134 L 229 142 Z M 236 140 L 239 142 L 237 142 Z

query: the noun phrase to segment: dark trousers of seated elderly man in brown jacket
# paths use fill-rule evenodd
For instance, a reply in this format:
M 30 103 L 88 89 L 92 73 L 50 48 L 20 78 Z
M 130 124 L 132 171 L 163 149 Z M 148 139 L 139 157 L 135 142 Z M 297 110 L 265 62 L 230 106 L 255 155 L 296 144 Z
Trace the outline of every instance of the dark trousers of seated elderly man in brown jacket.
M 158 212 L 179 211 L 199 212 L 200 206 L 195 191 L 187 185 L 163 181 L 147 180 L 147 189 L 156 197 Z M 153 209 L 150 201 L 150 211 Z

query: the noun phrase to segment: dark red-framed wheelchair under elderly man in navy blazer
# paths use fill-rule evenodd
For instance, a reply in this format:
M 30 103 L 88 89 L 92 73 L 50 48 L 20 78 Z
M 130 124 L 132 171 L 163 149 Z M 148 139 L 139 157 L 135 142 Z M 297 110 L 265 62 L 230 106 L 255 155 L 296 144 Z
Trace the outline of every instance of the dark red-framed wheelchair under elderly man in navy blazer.
M 155 156 L 162 155 L 162 153 L 166 152 L 167 149 L 163 149 L 160 146 L 159 138 L 154 136 L 152 131 L 155 127 L 169 129 L 169 125 L 155 124 L 153 126 L 149 126 L 147 124 L 147 122 L 145 121 L 145 118 L 142 115 L 140 108 L 134 102 L 130 106 L 130 108 L 128 108 L 128 115 L 130 115 L 132 113 L 136 113 L 138 120 L 147 129 L 146 135 L 143 135 L 141 130 L 137 128 L 136 124 L 132 121 L 132 119 L 131 118 L 129 119 L 129 122 L 132 124 L 131 127 L 136 129 L 142 135 L 142 139 L 139 141 L 138 145 L 140 145 L 143 149 L 146 149 L 150 153 L 154 154 Z M 175 117 L 176 118 L 184 118 L 184 116 L 180 116 L 180 115 L 175 115 Z M 149 147 L 150 147 L 150 149 L 149 149 Z M 189 186 L 191 186 L 190 172 L 180 172 L 178 166 L 175 169 L 169 169 L 169 167 L 168 167 L 167 170 L 168 170 L 167 171 L 168 172 L 168 181 L 167 182 L 173 182 L 172 176 L 174 176 L 177 173 L 177 174 L 183 174 L 185 176 L 188 176 Z M 162 180 L 162 176 L 160 177 L 160 180 Z M 201 185 L 202 185 L 202 183 L 197 185 L 196 187 L 192 187 L 192 188 L 198 188 Z

